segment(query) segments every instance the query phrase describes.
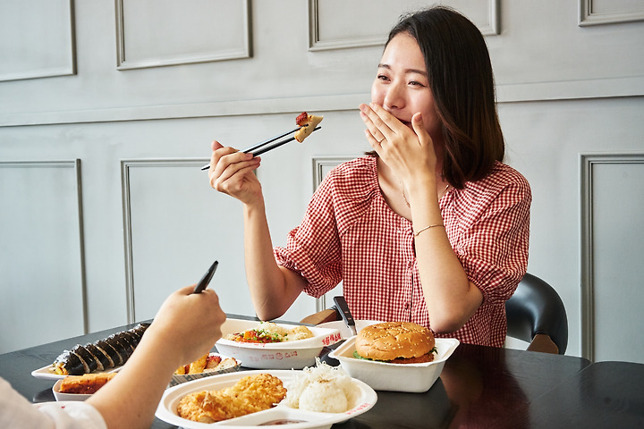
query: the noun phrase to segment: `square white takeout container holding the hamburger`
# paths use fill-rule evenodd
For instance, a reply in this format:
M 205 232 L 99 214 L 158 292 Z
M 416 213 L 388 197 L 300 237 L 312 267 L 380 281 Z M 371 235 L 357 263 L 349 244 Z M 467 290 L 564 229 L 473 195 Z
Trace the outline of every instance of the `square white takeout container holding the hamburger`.
M 353 378 L 369 384 L 377 391 L 428 391 L 443 371 L 445 361 L 452 356 L 460 342 L 455 338 L 436 338 L 437 354 L 433 362 L 423 364 L 388 364 L 353 357 L 355 339 L 347 341 L 329 353 Z

